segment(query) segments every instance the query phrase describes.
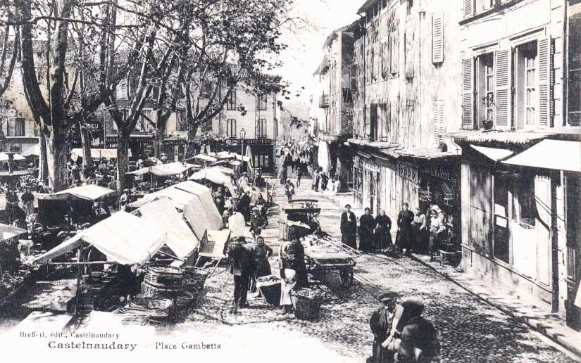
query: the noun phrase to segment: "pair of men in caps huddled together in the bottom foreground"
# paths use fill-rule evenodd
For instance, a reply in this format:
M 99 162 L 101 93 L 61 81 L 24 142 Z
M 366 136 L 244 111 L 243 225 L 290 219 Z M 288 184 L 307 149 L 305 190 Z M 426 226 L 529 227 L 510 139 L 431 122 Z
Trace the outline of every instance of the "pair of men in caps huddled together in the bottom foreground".
M 368 363 L 430 363 L 440 350 L 437 331 L 422 316 L 423 303 L 406 300 L 398 304 L 398 298 L 392 291 L 378 297 L 382 304 L 369 319 L 373 355 Z

